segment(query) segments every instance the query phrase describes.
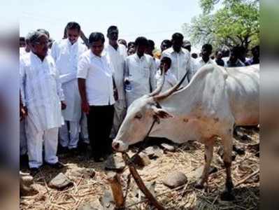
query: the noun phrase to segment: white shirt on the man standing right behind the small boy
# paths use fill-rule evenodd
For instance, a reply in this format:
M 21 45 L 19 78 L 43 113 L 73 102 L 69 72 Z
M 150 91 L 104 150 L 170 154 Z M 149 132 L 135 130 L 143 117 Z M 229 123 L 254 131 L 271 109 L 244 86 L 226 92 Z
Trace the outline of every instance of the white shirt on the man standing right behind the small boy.
M 162 52 L 162 58 L 171 58 L 171 68 L 169 71 L 173 73 L 178 80 L 182 79 L 186 72 L 191 71 L 190 53 L 188 50 L 181 48 L 180 52 L 176 52 L 173 48 L 168 48 Z M 183 81 L 183 86 L 188 84 L 187 78 Z

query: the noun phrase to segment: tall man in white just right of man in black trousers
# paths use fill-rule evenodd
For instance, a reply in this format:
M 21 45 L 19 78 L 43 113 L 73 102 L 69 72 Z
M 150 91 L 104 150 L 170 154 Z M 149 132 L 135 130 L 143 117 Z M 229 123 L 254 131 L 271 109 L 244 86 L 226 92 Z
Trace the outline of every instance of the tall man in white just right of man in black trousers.
M 117 131 L 124 120 L 126 113 L 126 100 L 124 94 L 124 67 L 127 57 L 127 49 L 124 45 L 117 43 L 118 29 L 115 26 L 108 28 L 108 45 L 104 49 L 104 55 L 108 59 L 108 63 L 113 67 L 113 78 L 117 88 L 118 99 L 114 104 L 115 113 L 113 118 L 113 129 L 111 137 L 114 139 Z

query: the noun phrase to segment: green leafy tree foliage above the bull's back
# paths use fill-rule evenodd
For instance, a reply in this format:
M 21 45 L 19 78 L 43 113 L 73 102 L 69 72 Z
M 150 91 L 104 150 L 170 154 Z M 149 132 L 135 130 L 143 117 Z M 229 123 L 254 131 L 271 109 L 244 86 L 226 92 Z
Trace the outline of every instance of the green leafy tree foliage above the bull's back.
M 259 44 L 259 1 L 200 0 L 200 5 L 203 14 L 183 25 L 193 44 L 212 43 L 215 48 Z

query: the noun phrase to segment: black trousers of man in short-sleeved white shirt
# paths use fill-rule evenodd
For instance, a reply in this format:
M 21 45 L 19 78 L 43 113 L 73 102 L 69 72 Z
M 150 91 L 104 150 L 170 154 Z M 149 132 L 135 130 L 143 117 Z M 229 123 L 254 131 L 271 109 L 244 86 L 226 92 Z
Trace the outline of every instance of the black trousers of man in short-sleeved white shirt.
M 102 158 L 112 152 L 110 131 L 113 127 L 114 106 L 90 106 L 87 115 L 92 156 Z

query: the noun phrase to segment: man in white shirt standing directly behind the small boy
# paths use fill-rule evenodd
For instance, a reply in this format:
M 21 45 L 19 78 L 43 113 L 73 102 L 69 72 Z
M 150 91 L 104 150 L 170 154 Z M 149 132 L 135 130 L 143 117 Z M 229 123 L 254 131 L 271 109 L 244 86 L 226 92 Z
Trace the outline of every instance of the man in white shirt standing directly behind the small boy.
M 183 35 L 180 33 L 173 34 L 171 40 L 173 46 L 162 52 L 162 57 L 171 58 L 171 69 L 169 69 L 169 71 L 173 73 L 178 80 L 183 78 L 185 73 L 189 74 L 191 71 L 191 55 L 188 50 L 182 48 L 183 38 Z M 183 86 L 185 87 L 188 83 L 188 78 L 186 78 L 183 81 Z

